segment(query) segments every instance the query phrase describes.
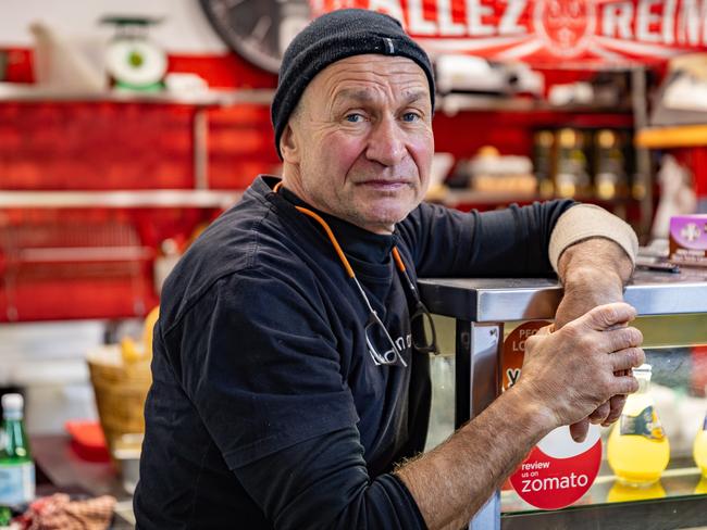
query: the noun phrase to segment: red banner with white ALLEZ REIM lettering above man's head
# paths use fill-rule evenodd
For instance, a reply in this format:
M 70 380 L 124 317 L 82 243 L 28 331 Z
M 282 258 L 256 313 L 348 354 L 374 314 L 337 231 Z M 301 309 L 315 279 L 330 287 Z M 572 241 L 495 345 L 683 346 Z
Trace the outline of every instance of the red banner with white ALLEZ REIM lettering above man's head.
M 707 49 L 707 0 L 310 0 L 398 18 L 432 55 L 532 64 L 656 63 Z

